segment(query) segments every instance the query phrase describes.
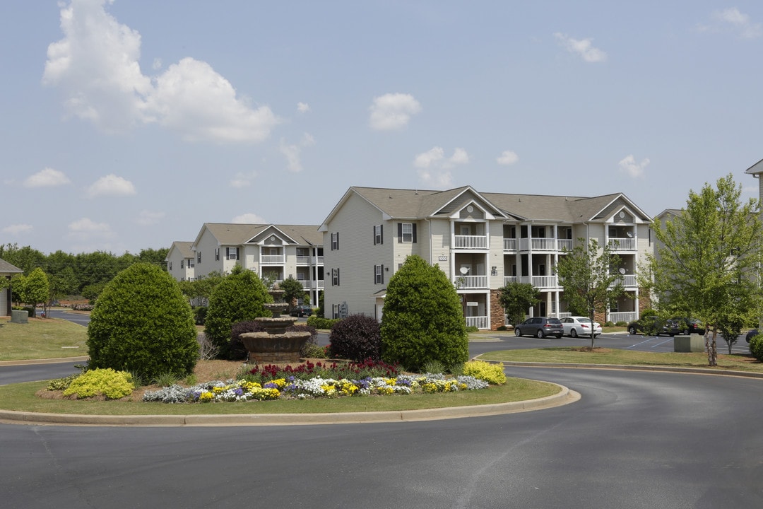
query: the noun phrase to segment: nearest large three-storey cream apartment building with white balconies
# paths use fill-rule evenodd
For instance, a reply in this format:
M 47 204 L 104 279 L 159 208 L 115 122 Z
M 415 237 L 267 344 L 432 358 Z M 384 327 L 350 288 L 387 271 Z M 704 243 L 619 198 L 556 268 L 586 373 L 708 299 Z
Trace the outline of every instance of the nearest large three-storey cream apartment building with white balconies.
M 320 225 L 324 234 L 327 317 L 381 320 L 386 285 L 408 255 L 437 264 L 462 298 L 466 322 L 505 323 L 497 301 L 507 282 L 532 283 L 542 301 L 534 316 L 569 314 L 554 272 L 563 250 L 597 239 L 620 256 L 627 295 L 607 320 L 639 316 L 636 269 L 651 253 L 651 218 L 625 195 L 592 198 L 351 187 Z

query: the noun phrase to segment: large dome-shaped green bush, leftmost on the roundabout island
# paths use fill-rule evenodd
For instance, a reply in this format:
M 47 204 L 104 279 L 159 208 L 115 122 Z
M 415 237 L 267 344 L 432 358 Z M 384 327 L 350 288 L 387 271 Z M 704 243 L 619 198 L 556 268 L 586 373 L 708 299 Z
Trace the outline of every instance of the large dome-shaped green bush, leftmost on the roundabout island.
M 159 266 L 136 263 L 106 285 L 90 314 L 91 369 L 111 368 L 143 379 L 185 376 L 198 360 L 191 306 Z

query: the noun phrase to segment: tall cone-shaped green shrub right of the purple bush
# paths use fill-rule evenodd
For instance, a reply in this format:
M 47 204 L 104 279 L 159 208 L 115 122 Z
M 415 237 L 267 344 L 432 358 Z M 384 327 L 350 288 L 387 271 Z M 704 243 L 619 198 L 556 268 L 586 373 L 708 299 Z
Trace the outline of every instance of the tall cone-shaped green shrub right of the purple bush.
M 381 358 L 418 371 L 438 360 L 468 360 L 468 335 L 456 288 L 439 266 L 408 256 L 390 278 L 381 320 Z

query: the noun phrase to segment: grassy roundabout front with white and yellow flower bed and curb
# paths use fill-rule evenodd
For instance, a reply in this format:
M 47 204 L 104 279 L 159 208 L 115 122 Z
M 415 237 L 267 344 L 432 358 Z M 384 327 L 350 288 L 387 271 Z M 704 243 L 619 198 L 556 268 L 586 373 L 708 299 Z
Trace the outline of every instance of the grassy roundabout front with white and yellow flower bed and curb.
M 503 375 L 501 366 L 492 367 Z M 566 404 L 578 397 L 546 382 L 507 379 L 504 384 L 487 386 L 469 376 L 448 379 L 441 375 L 320 379 L 312 384 L 279 378 L 273 387 L 270 382 L 230 380 L 177 385 L 173 390 L 142 388 L 119 399 L 41 398 L 49 385 L 27 382 L 0 387 L 0 420 L 171 426 L 388 422 L 506 414 Z M 278 398 L 258 401 L 262 398 L 256 395 L 262 390 L 277 391 Z M 246 395 L 252 395 L 250 401 L 243 401 Z M 184 402 L 159 402 L 173 398 Z

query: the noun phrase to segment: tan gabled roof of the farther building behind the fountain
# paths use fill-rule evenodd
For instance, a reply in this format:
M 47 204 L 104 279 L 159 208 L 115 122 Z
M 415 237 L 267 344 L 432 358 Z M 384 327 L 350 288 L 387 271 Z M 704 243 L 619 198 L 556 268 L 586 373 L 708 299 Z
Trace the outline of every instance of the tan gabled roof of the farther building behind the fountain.
M 318 233 L 316 225 L 304 224 L 238 224 L 238 223 L 204 223 L 192 245 L 201 240 L 204 231 L 217 240 L 219 246 L 240 246 L 252 241 L 266 230 L 278 232 L 287 243 L 298 246 L 321 246 L 324 243 L 323 234 Z

